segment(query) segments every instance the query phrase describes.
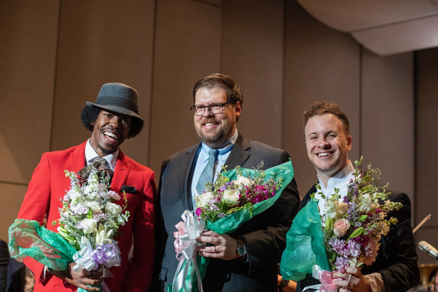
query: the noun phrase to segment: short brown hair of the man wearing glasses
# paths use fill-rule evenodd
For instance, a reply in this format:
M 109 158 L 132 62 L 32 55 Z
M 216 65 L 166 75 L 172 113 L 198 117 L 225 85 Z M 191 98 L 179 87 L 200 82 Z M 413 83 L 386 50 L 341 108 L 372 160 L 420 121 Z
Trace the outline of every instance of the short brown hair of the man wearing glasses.
M 224 74 L 211 74 L 201 78 L 192 89 L 193 102 L 195 102 L 195 96 L 198 89 L 206 88 L 212 89 L 215 87 L 222 88 L 226 94 L 226 101 L 233 104 L 239 102 L 240 108 L 242 108 L 244 103 L 244 96 L 240 91 L 240 86 L 234 81 L 231 76 Z M 239 118 L 236 118 L 236 121 Z

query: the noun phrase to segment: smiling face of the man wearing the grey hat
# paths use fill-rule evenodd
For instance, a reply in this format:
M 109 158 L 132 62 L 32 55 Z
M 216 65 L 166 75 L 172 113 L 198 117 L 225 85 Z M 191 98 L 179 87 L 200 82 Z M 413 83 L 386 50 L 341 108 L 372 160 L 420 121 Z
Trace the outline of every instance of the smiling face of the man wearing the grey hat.
M 132 117 L 112 111 L 101 110 L 92 123 L 90 144 L 100 157 L 119 149 L 127 138 Z

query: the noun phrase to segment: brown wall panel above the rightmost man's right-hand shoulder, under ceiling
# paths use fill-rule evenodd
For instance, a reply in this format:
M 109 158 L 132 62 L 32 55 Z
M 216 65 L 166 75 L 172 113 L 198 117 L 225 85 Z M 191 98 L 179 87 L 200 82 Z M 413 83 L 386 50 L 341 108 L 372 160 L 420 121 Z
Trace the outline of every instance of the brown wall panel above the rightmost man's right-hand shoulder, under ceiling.
M 362 155 L 380 184 L 414 197 L 413 53 L 362 54 Z M 414 214 L 414 212 L 412 212 Z

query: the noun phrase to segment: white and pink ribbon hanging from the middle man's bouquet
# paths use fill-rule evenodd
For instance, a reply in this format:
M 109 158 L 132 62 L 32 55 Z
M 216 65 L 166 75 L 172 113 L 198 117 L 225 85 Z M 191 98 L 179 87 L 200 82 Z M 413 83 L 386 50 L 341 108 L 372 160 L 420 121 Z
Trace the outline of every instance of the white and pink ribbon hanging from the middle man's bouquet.
M 180 261 L 175 272 L 172 283 L 172 291 L 179 292 L 182 288 L 184 292 L 191 292 L 192 281 L 194 274 L 198 280 L 198 288 L 202 290 L 201 274 L 199 273 L 198 264 L 196 262 L 197 252 L 194 249 L 197 246 L 205 246 L 204 243 L 197 242 L 196 239 L 201 235 L 205 228 L 205 219 L 196 216 L 194 211 L 185 210 L 181 215 L 184 222 L 179 222 L 175 227 L 177 232 L 173 233 L 175 237 L 175 251 L 177 252 L 177 260 Z M 183 264 L 185 263 L 184 267 Z M 184 285 L 187 276 L 189 276 L 188 287 Z

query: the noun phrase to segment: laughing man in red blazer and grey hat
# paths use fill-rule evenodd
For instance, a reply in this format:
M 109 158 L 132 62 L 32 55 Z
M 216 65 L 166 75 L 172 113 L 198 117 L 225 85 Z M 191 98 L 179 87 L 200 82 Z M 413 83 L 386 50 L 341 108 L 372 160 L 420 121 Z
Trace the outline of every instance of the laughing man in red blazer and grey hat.
M 82 124 L 92 131 L 91 139 L 67 150 L 42 154 L 29 182 L 18 218 L 37 220 L 42 224 L 47 215 L 47 228 L 57 231 L 58 208 L 62 207 L 60 198 L 69 189 L 70 179 L 64 170 L 80 171 L 99 157 L 112 174 L 111 188 L 121 193 L 126 189 L 127 209 L 131 216 L 115 239 L 119 242 L 121 266 L 109 270 L 113 277 L 103 278 L 111 292 L 147 291 L 152 278 L 154 257 L 154 199 L 155 174 L 141 164 L 124 155 L 119 149 L 126 139 L 137 135 L 144 120 L 138 115 L 138 93 L 130 86 L 121 83 L 102 85 L 95 103 L 87 102 L 81 112 Z M 122 205 L 123 200 L 116 201 Z M 131 261 L 128 254 L 134 242 Z M 24 263 L 35 276 L 34 291 L 76 291 L 77 287 L 87 291 L 98 288 L 85 286 L 98 285 L 102 272 L 74 272 L 73 264 L 66 271 L 55 271 L 27 257 Z

